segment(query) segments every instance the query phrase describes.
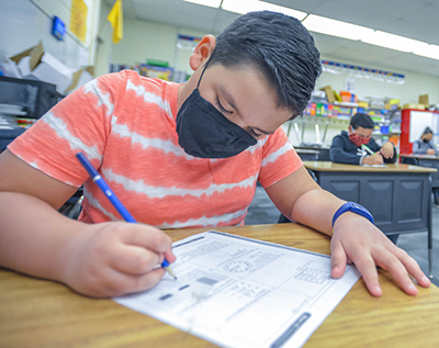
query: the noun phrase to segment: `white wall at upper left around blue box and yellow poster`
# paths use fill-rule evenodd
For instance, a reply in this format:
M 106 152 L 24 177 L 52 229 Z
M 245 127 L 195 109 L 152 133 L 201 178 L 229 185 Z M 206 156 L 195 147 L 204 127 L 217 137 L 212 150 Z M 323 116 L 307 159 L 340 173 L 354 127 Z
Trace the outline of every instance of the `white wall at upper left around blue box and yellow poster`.
M 52 35 L 52 18 L 60 18 L 66 27 L 70 22 L 71 0 L 14 0 L 0 2 L 0 60 L 43 42 L 46 52 L 66 66 L 78 69 L 93 61 L 89 44 L 97 31 L 101 0 L 85 0 L 88 5 L 86 43 L 67 33 L 64 41 Z M 7 33 L 7 34 L 5 34 Z

